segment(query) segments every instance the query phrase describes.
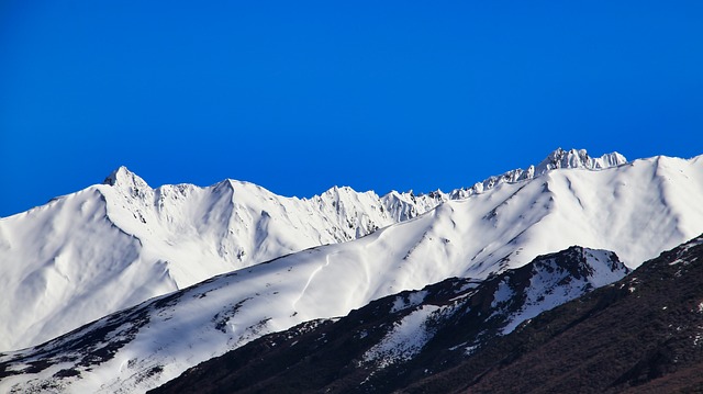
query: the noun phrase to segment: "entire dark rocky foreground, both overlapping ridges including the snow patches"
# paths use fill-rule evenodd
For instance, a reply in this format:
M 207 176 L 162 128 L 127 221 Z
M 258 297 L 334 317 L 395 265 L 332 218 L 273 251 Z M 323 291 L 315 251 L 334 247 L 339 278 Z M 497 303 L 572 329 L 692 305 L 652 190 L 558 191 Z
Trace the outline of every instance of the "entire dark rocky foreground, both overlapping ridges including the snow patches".
M 149 393 L 700 392 L 703 235 L 625 271 L 572 247 L 268 335 Z

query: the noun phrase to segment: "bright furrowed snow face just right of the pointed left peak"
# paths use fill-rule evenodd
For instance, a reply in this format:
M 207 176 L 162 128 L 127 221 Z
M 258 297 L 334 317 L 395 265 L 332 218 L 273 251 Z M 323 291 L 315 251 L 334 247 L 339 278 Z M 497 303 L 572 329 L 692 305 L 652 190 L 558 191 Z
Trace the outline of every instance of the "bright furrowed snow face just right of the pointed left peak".
M 113 179 L 116 178 L 116 182 Z M 144 243 L 143 255 L 169 262 L 178 286 L 312 246 L 355 239 L 394 221 L 373 192 L 333 188 L 310 200 L 281 198 L 226 180 L 152 190 L 121 168 L 103 188 L 108 215 Z

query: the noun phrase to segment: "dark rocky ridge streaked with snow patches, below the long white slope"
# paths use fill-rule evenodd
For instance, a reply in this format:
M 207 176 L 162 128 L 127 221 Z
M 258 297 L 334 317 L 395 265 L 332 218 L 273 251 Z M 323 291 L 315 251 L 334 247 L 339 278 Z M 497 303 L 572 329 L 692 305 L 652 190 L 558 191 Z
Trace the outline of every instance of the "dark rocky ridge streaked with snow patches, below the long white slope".
M 571 247 L 483 282 L 451 278 L 336 322 L 268 335 L 150 393 L 388 393 L 453 368 L 540 312 L 628 272 L 612 252 Z

